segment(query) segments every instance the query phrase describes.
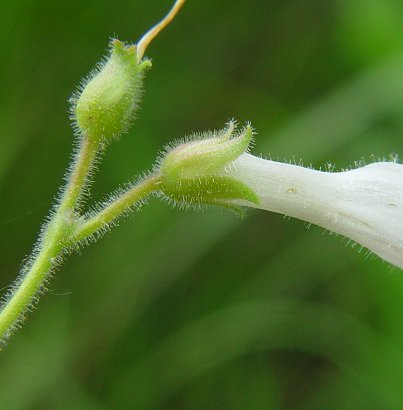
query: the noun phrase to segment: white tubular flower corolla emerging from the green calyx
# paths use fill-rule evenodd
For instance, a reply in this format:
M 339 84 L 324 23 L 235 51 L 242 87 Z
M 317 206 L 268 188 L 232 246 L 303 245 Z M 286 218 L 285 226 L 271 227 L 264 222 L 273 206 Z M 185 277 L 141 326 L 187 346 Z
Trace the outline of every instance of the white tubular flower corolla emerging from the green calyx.
M 321 172 L 242 154 L 228 175 L 251 188 L 259 204 L 353 239 L 403 268 L 403 165 L 377 162 Z

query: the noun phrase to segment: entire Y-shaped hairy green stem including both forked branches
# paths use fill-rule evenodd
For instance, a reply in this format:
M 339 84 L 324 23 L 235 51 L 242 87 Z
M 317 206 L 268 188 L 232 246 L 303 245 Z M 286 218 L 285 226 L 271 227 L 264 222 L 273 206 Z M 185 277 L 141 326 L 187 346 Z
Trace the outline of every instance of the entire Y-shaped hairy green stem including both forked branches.
M 134 204 L 157 190 L 160 175 L 151 175 L 80 224 L 80 216 L 75 211 L 98 150 L 98 142 L 90 138 L 83 140 L 60 205 L 40 238 L 32 262 L 23 270 L 21 279 L 16 282 L 2 306 L 0 340 L 4 341 L 11 335 L 23 319 L 24 312 L 36 302 L 35 298 L 43 288 L 47 276 L 56 267 L 58 258 L 64 251 L 107 227 Z

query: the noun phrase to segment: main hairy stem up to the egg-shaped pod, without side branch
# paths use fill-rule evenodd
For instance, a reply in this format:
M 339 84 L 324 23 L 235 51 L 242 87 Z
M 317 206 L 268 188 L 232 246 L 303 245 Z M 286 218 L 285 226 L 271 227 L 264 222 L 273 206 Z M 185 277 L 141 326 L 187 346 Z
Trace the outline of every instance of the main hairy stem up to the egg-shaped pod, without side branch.
M 63 239 L 71 231 L 75 220 L 74 210 L 98 148 L 98 142 L 90 138 L 83 140 L 60 205 L 40 240 L 33 262 L 2 306 L 0 312 L 1 340 L 10 336 L 24 312 L 33 305 L 35 296 L 41 290 L 49 272 L 55 267 L 57 258 L 65 249 Z

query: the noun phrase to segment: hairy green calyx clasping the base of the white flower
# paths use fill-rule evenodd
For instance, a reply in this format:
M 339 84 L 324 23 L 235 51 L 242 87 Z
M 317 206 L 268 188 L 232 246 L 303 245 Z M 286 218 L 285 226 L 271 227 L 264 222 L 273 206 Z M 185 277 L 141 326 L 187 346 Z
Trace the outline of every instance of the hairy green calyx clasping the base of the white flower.
M 238 210 L 236 200 L 259 203 L 255 192 L 230 176 L 233 161 L 247 151 L 253 131 L 247 125 L 234 135 L 235 123 L 203 139 L 184 142 L 161 161 L 160 189 L 179 204 L 220 205 Z

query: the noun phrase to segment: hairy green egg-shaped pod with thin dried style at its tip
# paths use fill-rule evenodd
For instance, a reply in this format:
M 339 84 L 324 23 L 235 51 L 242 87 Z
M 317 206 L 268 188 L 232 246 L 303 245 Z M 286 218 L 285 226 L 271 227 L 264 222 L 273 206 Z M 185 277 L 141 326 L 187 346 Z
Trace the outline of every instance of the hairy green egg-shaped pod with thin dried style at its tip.
M 149 60 L 137 62 L 135 45 L 112 40 L 106 62 L 71 98 L 79 134 L 109 142 L 125 132 L 141 96 L 144 70 L 150 66 Z

